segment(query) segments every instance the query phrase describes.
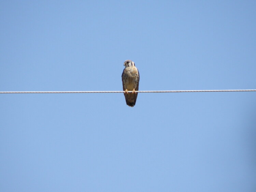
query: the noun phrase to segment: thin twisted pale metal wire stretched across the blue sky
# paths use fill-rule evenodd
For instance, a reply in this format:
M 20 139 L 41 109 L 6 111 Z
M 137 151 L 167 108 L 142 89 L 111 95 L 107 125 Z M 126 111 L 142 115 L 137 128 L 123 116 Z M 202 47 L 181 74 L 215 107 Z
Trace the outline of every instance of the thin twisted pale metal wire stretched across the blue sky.
M 136 91 L 137 93 L 180 93 L 180 92 L 235 92 L 256 91 L 256 89 L 235 90 L 176 90 L 176 91 Z M 125 91 L 0 91 L 0 93 L 124 93 Z M 132 91 L 128 91 L 131 93 Z

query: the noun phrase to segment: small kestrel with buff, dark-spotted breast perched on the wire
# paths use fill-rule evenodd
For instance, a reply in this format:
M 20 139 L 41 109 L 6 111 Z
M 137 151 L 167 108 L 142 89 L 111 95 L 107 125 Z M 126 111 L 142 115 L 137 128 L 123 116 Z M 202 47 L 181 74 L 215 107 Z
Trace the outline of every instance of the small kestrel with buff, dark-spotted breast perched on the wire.
M 139 90 L 140 74 L 133 61 L 126 60 L 124 66 L 125 69 L 122 73 L 122 82 L 123 90 L 126 91 L 124 93 L 125 101 L 128 106 L 133 107 L 138 96 L 138 93 L 135 91 Z M 127 91 L 132 91 L 132 93 L 128 93 Z

